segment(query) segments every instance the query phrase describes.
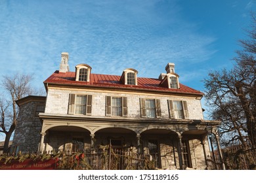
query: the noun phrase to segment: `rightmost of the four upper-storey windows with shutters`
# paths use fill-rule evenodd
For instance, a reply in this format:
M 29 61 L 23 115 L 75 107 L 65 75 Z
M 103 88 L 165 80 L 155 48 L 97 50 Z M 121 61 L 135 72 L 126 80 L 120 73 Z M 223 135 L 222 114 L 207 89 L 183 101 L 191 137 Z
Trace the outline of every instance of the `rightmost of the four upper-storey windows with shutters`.
M 186 101 L 168 101 L 170 118 L 188 119 L 188 106 Z

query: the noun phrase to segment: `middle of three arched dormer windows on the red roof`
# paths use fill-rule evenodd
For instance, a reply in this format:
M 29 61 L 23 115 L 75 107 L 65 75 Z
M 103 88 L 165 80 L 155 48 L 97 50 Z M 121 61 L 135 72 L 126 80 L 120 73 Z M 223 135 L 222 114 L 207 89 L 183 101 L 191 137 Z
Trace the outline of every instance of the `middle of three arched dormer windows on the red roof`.
M 131 69 L 131 68 L 125 69 L 123 71 L 123 74 L 121 75 L 120 83 L 138 85 L 137 74 L 138 74 L 138 71 L 135 69 Z

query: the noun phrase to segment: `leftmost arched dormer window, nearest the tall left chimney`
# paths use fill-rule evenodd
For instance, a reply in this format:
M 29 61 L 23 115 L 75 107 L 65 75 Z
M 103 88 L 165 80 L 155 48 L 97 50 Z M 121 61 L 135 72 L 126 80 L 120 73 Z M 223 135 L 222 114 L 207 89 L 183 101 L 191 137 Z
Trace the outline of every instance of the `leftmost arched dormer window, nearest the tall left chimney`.
M 76 81 L 90 81 L 91 67 L 87 64 L 79 64 L 75 66 L 75 80 Z

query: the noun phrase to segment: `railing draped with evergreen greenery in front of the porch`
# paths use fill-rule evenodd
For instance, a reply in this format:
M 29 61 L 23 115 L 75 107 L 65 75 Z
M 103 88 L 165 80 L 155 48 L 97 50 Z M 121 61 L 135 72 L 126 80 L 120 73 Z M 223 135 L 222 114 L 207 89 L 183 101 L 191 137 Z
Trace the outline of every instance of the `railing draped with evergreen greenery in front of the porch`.
M 155 169 L 154 161 L 133 149 L 106 148 L 88 153 L 67 154 L 60 158 L 58 169 L 69 169 L 69 167 L 92 170 Z

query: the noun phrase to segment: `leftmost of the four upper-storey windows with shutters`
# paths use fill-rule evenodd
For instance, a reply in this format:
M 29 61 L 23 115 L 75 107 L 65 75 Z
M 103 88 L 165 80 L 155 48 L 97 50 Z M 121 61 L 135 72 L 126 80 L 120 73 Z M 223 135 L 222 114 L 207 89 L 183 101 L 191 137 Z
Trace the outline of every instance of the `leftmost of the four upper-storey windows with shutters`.
M 70 94 L 68 114 L 91 115 L 92 95 Z

